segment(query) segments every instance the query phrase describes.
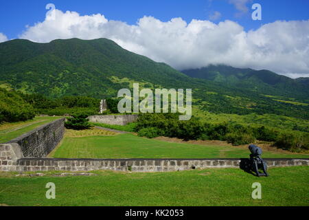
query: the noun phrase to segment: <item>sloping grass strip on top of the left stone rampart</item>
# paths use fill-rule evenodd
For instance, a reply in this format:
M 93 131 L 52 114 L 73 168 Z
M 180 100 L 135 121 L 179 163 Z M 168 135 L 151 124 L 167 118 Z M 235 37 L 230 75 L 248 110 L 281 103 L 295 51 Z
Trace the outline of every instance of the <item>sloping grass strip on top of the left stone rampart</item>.
M 27 133 L 36 129 L 38 126 L 47 124 L 58 118 L 62 117 L 51 117 L 36 116 L 33 120 L 27 120 L 25 122 L 14 122 L 14 123 L 3 123 L 0 124 L 0 143 L 8 142 L 16 137 L 19 137 L 23 133 Z

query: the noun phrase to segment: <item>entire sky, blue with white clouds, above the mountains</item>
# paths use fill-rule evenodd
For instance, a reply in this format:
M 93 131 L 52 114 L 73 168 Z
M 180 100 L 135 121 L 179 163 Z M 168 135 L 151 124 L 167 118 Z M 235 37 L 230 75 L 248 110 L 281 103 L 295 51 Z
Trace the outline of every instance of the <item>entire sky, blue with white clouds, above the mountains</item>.
M 309 0 L 0 1 L 0 43 L 106 38 L 179 70 L 225 64 L 309 77 Z

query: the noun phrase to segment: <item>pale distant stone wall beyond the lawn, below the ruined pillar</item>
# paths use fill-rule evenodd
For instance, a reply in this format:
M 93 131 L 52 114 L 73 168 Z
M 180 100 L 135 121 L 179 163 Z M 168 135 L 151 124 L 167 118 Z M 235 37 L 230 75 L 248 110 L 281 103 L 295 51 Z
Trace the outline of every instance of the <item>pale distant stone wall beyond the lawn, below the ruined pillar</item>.
M 98 122 L 103 124 L 126 125 L 130 122 L 135 122 L 138 115 L 91 115 L 90 122 Z

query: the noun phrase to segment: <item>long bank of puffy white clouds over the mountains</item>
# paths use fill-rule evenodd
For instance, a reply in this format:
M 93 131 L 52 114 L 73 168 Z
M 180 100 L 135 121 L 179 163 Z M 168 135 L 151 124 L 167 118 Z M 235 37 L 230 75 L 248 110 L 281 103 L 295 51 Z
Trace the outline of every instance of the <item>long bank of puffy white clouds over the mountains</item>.
M 186 23 L 181 18 L 162 22 L 143 17 L 136 25 L 128 25 L 108 21 L 102 14 L 80 16 L 56 10 L 55 20 L 36 23 L 20 36 L 36 42 L 73 37 L 111 39 L 126 50 L 176 69 L 222 63 L 270 69 L 286 76 L 309 74 L 309 20 L 275 21 L 245 32 L 241 25 L 228 20 Z

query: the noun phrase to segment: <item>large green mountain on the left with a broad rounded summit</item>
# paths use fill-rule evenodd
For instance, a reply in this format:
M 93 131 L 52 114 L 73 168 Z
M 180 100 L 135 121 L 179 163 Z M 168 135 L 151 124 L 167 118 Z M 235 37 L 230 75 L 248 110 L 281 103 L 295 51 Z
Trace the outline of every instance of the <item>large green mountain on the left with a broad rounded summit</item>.
M 187 76 L 108 39 L 0 43 L 0 80 L 14 89 L 50 97 L 115 96 L 130 80 L 173 87 Z M 168 78 L 169 80 L 166 80 Z M 130 79 L 130 80 L 128 80 Z

